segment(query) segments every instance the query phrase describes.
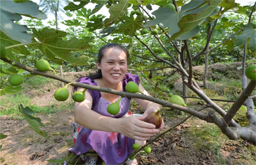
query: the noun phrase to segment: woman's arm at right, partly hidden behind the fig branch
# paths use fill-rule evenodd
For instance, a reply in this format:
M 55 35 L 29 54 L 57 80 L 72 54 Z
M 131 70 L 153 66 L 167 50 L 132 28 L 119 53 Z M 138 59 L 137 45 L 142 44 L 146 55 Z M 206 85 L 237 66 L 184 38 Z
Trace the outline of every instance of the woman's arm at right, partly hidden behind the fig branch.
M 143 94 L 151 96 L 141 84 L 139 84 L 139 90 L 141 90 L 141 92 L 143 92 Z M 143 114 L 144 117 L 147 117 L 149 114 L 161 109 L 160 104 L 154 103 L 152 101 L 137 99 L 137 98 L 134 100 L 145 110 L 145 112 Z M 164 122 L 162 120 L 160 129 L 162 129 L 163 127 L 164 127 Z

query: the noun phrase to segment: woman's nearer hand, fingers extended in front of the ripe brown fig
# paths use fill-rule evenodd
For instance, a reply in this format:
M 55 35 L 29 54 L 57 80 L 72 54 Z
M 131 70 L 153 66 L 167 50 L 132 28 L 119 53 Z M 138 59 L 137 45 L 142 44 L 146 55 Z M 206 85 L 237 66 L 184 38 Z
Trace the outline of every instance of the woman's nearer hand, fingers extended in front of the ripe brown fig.
M 145 117 L 143 116 L 128 116 L 119 118 L 115 132 L 124 134 L 132 139 L 147 140 L 151 136 L 156 135 L 159 130 L 156 129 L 154 124 L 144 122 L 144 119 Z

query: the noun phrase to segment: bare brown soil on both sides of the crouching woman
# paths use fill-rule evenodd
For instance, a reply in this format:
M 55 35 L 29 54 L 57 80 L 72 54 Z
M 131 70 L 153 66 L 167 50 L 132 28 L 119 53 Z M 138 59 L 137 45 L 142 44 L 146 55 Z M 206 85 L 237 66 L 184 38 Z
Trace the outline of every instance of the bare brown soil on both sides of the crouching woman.
M 57 104 L 55 101 L 52 102 L 56 85 L 43 86 L 42 90 L 46 92 L 40 95 L 36 93 L 38 89 L 34 93 L 33 90 L 30 91 L 30 95 L 34 96 L 35 105 Z M 139 111 L 139 108 L 134 108 L 134 112 Z M 170 117 L 170 113 L 176 116 Z M 9 116 L 0 117 L 1 132 L 7 135 L 7 138 L 0 140 L 1 165 L 52 165 L 59 163 L 51 163 L 47 160 L 63 159 L 67 156 L 67 150 L 73 146 L 72 108 L 53 114 L 39 113 L 36 117 L 39 117 L 46 126 L 40 128 L 47 132 L 49 140 L 36 134 L 25 120 Z M 214 137 L 214 130 L 217 127 L 212 126 L 212 129 L 209 129 L 206 125 L 210 123 L 195 117 L 182 122 L 184 118 L 186 115 L 178 114 L 175 110 L 167 110 L 163 113 L 165 128 L 161 132 L 178 123 L 181 124 L 156 139 L 152 143 L 150 154 L 139 152 L 136 158 L 140 165 L 255 164 L 254 145 L 241 139 L 232 141 L 226 136 Z

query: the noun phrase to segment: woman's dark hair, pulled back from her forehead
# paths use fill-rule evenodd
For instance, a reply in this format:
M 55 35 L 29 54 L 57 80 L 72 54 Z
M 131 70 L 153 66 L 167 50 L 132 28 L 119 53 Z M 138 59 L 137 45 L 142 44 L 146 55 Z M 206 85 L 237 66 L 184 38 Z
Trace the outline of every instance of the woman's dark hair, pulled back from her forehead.
M 127 59 L 127 61 L 128 61 L 128 59 L 129 59 L 129 53 L 128 53 L 127 49 L 124 48 L 123 46 L 120 46 L 119 44 L 111 43 L 111 44 L 106 44 L 106 45 L 102 46 L 102 47 L 99 49 L 99 51 L 98 51 L 98 60 L 97 60 L 97 63 L 98 63 L 98 62 L 99 62 L 99 63 L 101 62 L 102 58 L 104 57 L 104 54 L 105 54 L 106 50 L 109 49 L 109 48 L 119 48 L 119 49 L 122 49 L 122 50 L 126 53 L 126 59 Z M 89 78 L 91 78 L 91 79 L 99 79 L 99 78 L 102 77 L 101 70 L 98 70 L 98 72 L 97 72 L 96 74 L 94 74 L 94 75 L 89 75 L 89 76 L 87 76 L 87 77 L 89 77 Z

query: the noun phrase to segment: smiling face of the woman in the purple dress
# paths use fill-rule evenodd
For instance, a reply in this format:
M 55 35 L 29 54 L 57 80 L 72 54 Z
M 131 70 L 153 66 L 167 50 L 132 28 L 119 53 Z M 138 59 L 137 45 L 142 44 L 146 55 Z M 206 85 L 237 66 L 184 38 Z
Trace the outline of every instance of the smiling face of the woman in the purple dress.
M 126 53 L 120 48 L 108 48 L 97 68 L 102 72 L 104 83 L 118 84 L 127 73 Z

